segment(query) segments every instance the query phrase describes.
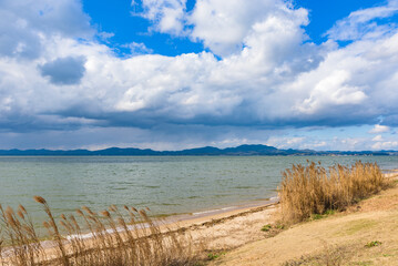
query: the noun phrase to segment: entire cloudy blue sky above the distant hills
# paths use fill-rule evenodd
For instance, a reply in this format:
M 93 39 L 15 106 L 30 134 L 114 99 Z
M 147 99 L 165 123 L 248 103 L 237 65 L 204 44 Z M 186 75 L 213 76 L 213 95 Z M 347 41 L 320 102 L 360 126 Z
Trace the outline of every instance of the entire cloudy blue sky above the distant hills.
M 0 0 L 0 149 L 398 150 L 398 0 Z

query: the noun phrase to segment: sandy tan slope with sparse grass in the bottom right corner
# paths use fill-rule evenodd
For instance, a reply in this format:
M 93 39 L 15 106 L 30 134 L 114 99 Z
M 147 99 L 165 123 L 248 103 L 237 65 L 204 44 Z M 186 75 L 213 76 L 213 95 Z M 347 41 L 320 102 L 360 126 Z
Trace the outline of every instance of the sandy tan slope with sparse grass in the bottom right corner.
M 245 244 L 208 265 L 398 265 L 398 185 L 343 213 Z

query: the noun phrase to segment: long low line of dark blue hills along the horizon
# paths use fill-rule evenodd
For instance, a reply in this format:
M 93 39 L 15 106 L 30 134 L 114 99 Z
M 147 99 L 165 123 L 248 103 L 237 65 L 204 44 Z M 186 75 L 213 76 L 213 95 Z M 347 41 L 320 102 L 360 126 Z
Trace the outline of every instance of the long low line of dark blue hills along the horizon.
M 258 155 L 398 155 L 398 151 L 361 151 L 361 152 L 340 152 L 327 151 L 319 152 L 313 150 L 279 150 L 267 145 L 241 145 L 236 147 L 218 149 L 213 146 L 188 149 L 182 151 L 153 151 L 151 149 L 134 147 L 110 147 L 105 150 L 0 150 L 0 156 L 258 156 Z

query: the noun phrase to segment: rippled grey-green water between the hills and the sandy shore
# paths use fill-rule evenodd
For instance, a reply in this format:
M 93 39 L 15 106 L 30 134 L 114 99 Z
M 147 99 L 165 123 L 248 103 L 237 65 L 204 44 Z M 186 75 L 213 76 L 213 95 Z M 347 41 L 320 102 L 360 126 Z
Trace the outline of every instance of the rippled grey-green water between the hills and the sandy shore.
M 22 204 L 33 218 L 42 215 L 33 195 L 55 214 L 110 204 L 150 207 L 153 215 L 201 212 L 275 196 L 280 172 L 307 160 L 398 167 L 398 156 L 0 157 L 0 203 Z

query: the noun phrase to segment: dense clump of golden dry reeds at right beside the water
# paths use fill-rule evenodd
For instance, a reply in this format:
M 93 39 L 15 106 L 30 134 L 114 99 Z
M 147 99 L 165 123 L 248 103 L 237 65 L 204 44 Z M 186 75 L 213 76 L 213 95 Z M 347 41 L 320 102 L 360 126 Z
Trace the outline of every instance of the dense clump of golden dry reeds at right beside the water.
M 340 211 L 390 184 L 376 163 L 357 162 L 350 167 L 337 164 L 328 170 L 314 162 L 308 166 L 293 165 L 283 172 L 282 219 L 292 224 L 314 214 Z

